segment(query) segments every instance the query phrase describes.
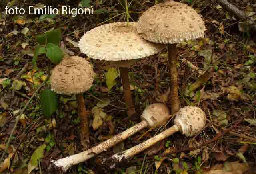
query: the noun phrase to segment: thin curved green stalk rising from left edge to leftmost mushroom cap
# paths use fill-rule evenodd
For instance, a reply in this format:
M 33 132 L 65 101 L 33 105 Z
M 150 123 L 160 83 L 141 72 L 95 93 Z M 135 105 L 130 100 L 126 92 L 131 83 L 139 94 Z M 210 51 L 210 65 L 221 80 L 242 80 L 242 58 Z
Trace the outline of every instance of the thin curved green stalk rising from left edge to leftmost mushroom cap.
M 25 111 L 26 108 L 28 107 L 28 104 L 32 101 L 32 99 L 34 98 L 34 96 L 36 96 L 36 94 L 39 92 L 39 90 L 42 88 L 42 86 L 43 86 L 44 83 L 48 80 L 49 77 L 50 77 L 50 74 L 48 74 L 48 76 L 46 77 L 46 79 L 44 80 L 44 82 L 42 82 L 42 84 L 37 88 L 37 90 L 36 90 L 36 91 L 34 92 L 34 94 L 30 97 L 30 99 L 28 100 L 28 102 L 26 103 L 26 105 L 24 106 L 24 108 L 20 111 L 20 115 L 17 117 L 16 122 L 15 122 L 15 124 L 14 124 L 14 127 L 12 128 L 11 134 L 10 134 L 10 136 L 9 136 L 9 138 L 8 138 L 7 143 L 6 143 L 6 150 L 5 150 L 5 152 L 7 152 L 8 146 L 9 146 L 9 144 L 10 144 L 10 140 L 11 140 L 11 138 L 12 138 L 12 135 L 13 135 L 13 133 L 14 133 L 14 130 L 16 129 L 16 127 L 17 127 L 17 125 L 18 125 L 18 122 L 19 122 L 19 120 L 20 120 L 21 115 L 24 113 L 24 111 Z M 0 159 L 0 162 L 2 162 L 2 160 L 4 159 L 4 154 L 5 154 L 5 153 L 2 154 L 1 159 Z

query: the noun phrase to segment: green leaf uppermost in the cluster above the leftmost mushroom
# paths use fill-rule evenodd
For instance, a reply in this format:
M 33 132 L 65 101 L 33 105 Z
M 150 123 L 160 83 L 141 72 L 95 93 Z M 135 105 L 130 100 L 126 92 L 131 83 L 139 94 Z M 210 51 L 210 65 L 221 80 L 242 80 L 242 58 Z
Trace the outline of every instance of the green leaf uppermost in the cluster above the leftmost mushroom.
M 47 43 L 54 43 L 56 45 L 59 45 L 61 41 L 61 31 L 60 29 L 54 29 L 52 31 L 46 31 L 42 35 L 37 35 L 36 40 L 41 45 L 46 45 Z

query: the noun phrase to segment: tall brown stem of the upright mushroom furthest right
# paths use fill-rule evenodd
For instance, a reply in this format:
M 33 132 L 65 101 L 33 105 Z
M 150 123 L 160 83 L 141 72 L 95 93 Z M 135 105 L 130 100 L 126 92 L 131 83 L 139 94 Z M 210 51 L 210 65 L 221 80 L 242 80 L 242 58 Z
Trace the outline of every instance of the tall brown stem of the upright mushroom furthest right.
M 176 44 L 168 44 L 169 64 L 170 64 L 170 108 L 174 114 L 180 109 L 178 96 L 178 70 L 177 70 L 177 48 Z

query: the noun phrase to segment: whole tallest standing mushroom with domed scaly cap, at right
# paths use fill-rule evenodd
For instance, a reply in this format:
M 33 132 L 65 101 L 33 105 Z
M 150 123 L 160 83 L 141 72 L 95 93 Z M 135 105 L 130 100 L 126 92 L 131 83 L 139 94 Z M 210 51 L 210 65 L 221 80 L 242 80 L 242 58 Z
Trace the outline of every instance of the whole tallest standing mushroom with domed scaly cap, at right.
M 169 0 L 149 8 L 140 16 L 138 34 L 153 43 L 167 44 L 170 64 L 170 108 L 179 108 L 176 44 L 204 37 L 204 21 L 196 10 L 186 4 Z

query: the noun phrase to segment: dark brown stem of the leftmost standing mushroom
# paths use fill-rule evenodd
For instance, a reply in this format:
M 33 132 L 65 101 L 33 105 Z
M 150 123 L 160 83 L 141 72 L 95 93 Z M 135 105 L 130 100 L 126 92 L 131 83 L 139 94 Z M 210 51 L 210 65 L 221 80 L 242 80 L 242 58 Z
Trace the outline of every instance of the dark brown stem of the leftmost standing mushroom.
M 89 123 L 88 123 L 88 113 L 85 108 L 84 95 L 76 94 L 76 101 L 78 105 L 78 116 L 80 118 L 80 139 L 81 144 L 88 149 L 90 145 L 89 140 Z

